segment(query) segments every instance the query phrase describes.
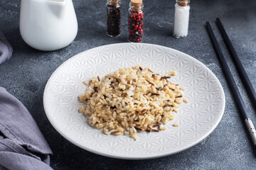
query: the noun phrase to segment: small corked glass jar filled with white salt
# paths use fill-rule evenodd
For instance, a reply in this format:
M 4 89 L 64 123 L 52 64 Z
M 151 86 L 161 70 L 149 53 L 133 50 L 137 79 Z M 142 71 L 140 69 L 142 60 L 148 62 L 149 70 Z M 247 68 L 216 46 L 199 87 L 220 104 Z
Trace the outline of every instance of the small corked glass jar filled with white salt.
M 174 37 L 185 38 L 188 35 L 190 0 L 176 0 L 174 13 Z

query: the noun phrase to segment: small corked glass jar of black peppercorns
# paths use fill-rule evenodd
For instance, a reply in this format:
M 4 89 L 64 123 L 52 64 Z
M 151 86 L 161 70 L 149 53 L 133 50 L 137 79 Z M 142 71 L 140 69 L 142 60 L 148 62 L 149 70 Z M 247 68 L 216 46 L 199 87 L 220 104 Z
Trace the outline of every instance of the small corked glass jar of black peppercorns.
M 107 35 L 114 37 L 121 33 L 120 0 L 107 0 Z

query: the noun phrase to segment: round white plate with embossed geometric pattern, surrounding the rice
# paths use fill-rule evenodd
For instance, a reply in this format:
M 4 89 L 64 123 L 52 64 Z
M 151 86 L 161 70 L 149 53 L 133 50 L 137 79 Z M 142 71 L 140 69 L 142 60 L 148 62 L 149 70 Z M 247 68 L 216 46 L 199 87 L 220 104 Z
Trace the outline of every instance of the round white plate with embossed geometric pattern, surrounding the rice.
M 186 88 L 184 98 L 189 102 L 181 104 L 167 130 L 140 132 L 137 141 L 91 128 L 78 113 L 78 95 L 87 88 L 82 81 L 136 64 L 158 73 L 176 70 L 171 81 Z M 181 152 L 207 137 L 223 116 L 225 96 L 213 72 L 193 57 L 159 45 L 121 43 L 95 47 L 61 64 L 46 84 L 43 105 L 53 127 L 82 149 L 120 159 L 149 159 Z

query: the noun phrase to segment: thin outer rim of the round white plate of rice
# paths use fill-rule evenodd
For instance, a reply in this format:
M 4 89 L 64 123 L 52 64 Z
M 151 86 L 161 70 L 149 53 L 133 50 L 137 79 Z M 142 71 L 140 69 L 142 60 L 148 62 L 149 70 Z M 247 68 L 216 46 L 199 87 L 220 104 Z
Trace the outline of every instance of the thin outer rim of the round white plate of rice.
M 106 46 L 111 46 L 111 45 L 131 45 L 132 43 L 130 42 L 123 42 L 123 43 L 114 43 L 114 44 L 109 44 L 109 45 L 102 45 L 102 46 L 98 46 L 98 47 L 93 47 L 93 48 L 90 48 L 88 50 L 93 50 L 93 49 L 96 49 L 96 48 L 100 48 L 100 47 L 106 47 Z M 154 45 L 154 44 L 150 44 L 150 43 L 139 43 L 140 45 L 149 45 L 149 46 L 158 46 L 158 47 L 164 47 L 164 48 L 168 48 L 168 49 L 171 49 L 171 50 L 174 50 L 178 53 L 181 53 L 182 55 L 190 58 L 191 60 L 193 60 L 194 62 L 198 62 L 199 64 L 201 64 L 202 67 L 204 67 L 205 69 L 208 70 L 208 72 L 210 72 L 211 74 L 213 74 L 213 77 L 215 77 L 215 79 L 217 80 L 218 84 L 220 85 L 220 91 L 221 93 L 223 94 L 223 107 L 221 108 L 222 112 L 221 112 L 221 115 L 219 117 L 219 119 L 216 121 L 215 125 L 213 125 L 213 127 L 205 134 L 203 135 L 202 137 L 198 138 L 198 140 L 196 142 L 194 142 L 192 145 L 188 145 L 187 147 L 184 147 L 182 149 L 178 149 L 177 151 L 175 152 L 170 152 L 170 153 L 166 153 L 166 154 L 159 154 L 159 155 L 156 155 L 156 156 L 149 156 L 149 157 L 131 157 L 131 156 L 117 156 L 117 155 L 112 155 L 112 154 L 106 154 L 106 153 L 102 153 L 102 152 L 98 152 L 94 149 L 91 149 L 90 147 L 85 147 L 84 145 L 80 145 L 78 142 L 75 142 L 73 139 L 71 139 L 71 137 L 68 137 L 68 135 L 65 135 L 63 134 L 63 132 L 61 132 L 61 130 L 59 128 L 57 128 L 55 126 L 55 124 L 53 123 L 53 120 L 50 119 L 50 111 L 48 111 L 48 108 L 46 108 L 46 89 L 47 87 L 49 86 L 50 84 L 50 79 L 54 76 L 55 72 L 58 72 L 58 70 L 60 69 L 60 67 L 63 66 L 63 64 L 65 64 L 66 62 L 69 62 L 70 60 L 73 60 L 75 57 L 78 57 L 79 55 L 82 55 L 82 53 L 85 53 L 87 52 L 88 50 L 85 50 L 83 52 L 80 52 L 78 53 L 77 55 L 74 55 L 73 57 L 70 57 L 68 60 L 66 60 L 65 62 L 63 62 L 62 64 L 60 64 L 60 66 L 55 69 L 55 71 L 50 75 L 47 83 L 46 83 L 46 86 L 45 86 L 45 89 L 43 91 L 43 108 L 44 108 L 44 111 L 46 113 L 46 116 L 48 118 L 48 120 L 50 121 L 50 124 L 53 125 L 53 128 L 55 128 L 55 130 L 57 130 L 58 133 L 60 133 L 60 135 L 62 135 L 66 140 L 68 140 L 69 142 L 73 143 L 74 145 L 82 148 L 82 149 L 85 149 L 89 152 L 92 152 L 94 154 L 99 154 L 99 155 L 102 155 L 102 156 L 105 156 L 105 157 L 112 157 L 112 158 L 115 158 L 115 159 L 154 159 L 154 158 L 159 158 L 159 157 L 166 157 L 166 156 L 169 156 L 171 154 L 176 154 L 178 152 L 183 152 L 184 150 L 186 149 L 189 149 L 195 145 L 197 145 L 199 142 L 201 142 L 202 140 L 204 140 L 206 137 L 208 137 L 210 135 L 211 132 L 213 132 L 213 130 L 215 130 L 215 128 L 218 126 L 218 124 L 220 123 L 220 120 L 223 118 L 223 114 L 224 114 L 224 111 L 225 111 L 225 93 L 224 93 L 224 90 L 223 90 L 223 86 L 220 84 L 220 81 L 219 79 L 215 76 L 215 74 L 208 68 L 206 67 L 205 64 L 203 64 L 202 62 L 200 62 L 199 60 L 196 60 L 194 57 L 191 57 L 190 55 L 187 55 L 186 53 L 184 52 L 181 52 L 181 51 L 178 51 L 178 50 L 175 50 L 171 47 L 166 47 L 166 46 L 163 46 L 163 45 Z

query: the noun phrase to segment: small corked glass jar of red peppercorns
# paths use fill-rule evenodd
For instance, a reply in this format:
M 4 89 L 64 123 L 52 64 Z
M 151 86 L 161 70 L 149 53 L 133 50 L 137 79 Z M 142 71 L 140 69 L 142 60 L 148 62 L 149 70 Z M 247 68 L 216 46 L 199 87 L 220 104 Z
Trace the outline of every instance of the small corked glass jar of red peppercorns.
M 141 42 L 143 35 L 143 3 L 142 0 L 131 0 L 128 9 L 128 40 L 129 42 Z

